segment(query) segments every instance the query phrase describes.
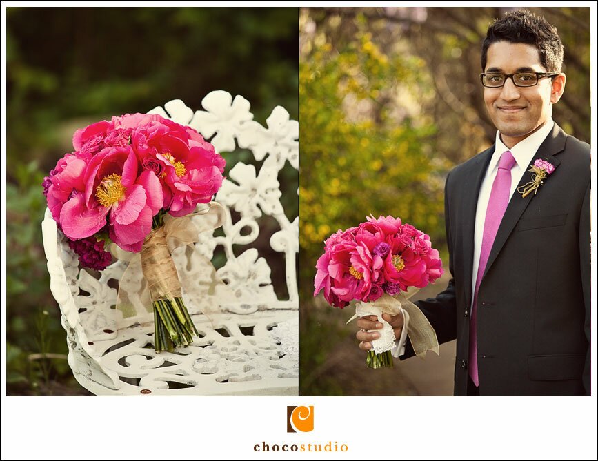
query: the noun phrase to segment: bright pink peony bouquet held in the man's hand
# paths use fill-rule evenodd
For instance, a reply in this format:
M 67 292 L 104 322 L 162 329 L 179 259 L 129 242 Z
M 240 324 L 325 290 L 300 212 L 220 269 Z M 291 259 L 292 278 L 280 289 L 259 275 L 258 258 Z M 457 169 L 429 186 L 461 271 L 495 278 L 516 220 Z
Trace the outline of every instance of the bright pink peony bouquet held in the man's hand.
M 434 329 L 408 300 L 443 274 L 439 253 L 428 235 L 399 218 L 368 217 L 357 227 L 332 234 L 316 268 L 314 296 L 323 291 L 330 305 L 341 308 L 357 300 L 353 318 L 375 315 L 383 324 L 380 338 L 372 341 L 368 351 L 368 367 L 392 367 L 395 334 L 383 313 L 403 313 L 403 329 L 417 355 L 427 350 L 438 354 Z

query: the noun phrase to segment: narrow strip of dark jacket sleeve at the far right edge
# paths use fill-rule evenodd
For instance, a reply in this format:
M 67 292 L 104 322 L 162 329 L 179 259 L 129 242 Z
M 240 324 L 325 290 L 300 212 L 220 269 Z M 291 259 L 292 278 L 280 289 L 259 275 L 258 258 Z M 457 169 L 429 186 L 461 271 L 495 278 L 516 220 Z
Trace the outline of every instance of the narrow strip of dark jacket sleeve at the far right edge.
M 586 353 L 586 365 L 584 367 L 584 374 L 581 378 L 582 382 L 584 383 L 584 389 L 586 390 L 586 395 L 589 396 L 591 393 L 591 386 L 590 386 L 590 362 L 592 360 L 592 350 L 591 350 L 591 340 L 590 340 L 590 332 L 591 332 L 591 321 L 590 321 L 590 314 L 591 314 L 591 300 L 590 300 L 590 183 L 588 183 L 588 188 L 586 189 L 586 196 L 584 198 L 584 203 L 581 205 L 581 216 L 579 218 L 579 261 L 581 263 L 581 286 L 584 290 L 584 304 L 586 305 L 586 318 L 585 318 L 585 325 L 584 331 L 586 333 L 586 338 L 588 339 L 588 351 Z

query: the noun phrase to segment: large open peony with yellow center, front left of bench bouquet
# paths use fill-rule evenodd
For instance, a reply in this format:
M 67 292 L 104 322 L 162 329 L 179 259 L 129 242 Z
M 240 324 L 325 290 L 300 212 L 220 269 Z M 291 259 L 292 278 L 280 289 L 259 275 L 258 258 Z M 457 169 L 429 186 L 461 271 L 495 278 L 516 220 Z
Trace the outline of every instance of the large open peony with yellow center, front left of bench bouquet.
M 114 243 L 126 251 L 141 251 L 163 196 L 156 175 L 146 170 L 137 177 L 137 167 L 130 146 L 108 147 L 94 156 L 84 178 L 85 193 L 74 196 L 61 210 L 64 234 L 72 240 L 91 236 L 108 218 Z

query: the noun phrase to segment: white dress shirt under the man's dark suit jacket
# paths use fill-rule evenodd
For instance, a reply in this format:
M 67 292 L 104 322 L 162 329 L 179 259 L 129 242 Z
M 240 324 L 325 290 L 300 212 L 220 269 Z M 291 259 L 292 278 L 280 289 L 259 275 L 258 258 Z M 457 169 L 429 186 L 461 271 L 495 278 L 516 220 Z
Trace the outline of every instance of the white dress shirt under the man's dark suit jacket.
M 481 182 L 479 189 L 479 195 L 477 197 L 477 208 L 475 212 L 475 234 L 474 234 L 474 247 L 473 247 L 473 276 L 471 280 L 471 292 L 475 291 L 475 282 L 477 277 L 477 268 L 479 266 L 479 254 L 481 252 L 481 240 L 484 237 L 484 223 L 486 221 L 486 209 L 488 209 L 488 201 L 490 201 L 490 192 L 492 192 L 492 184 L 496 178 L 498 172 L 498 163 L 501 155 L 506 150 L 510 150 L 512 156 L 517 162 L 511 170 L 511 190 L 510 197 L 513 196 L 513 192 L 517 189 L 517 185 L 525 172 L 529 170 L 532 158 L 534 158 L 541 143 L 544 142 L 546 136 L 552 131 L 552 127 L 555 122 L 552 119 L 548 119 L 544 125 L 536 132 L 530 134 L 523 141 L 519 141 L 516 145 L 510 149 L 504 145 L 501 140 L 500 132 L 496 134 L 496 148 L 490 158 L 488 164 L 488 170 L 486 170 L 486 176 Z M 472 296 L 473 303 L 473 296 Z M 403 327 L 401 332 L 401 338 L 395 343 L 395 347 L 391 349 L 392 356 L 400 357 L 405 354 L 405 342 L 407 339 L 406 327 Z

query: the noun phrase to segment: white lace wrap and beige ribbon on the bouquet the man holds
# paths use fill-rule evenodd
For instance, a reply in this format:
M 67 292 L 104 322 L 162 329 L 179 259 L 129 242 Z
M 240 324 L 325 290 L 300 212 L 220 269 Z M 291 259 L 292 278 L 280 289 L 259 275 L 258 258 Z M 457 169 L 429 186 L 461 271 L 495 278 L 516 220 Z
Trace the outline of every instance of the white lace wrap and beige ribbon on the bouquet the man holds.
M 395 345 L 395 334 L 390 324 L 382 318 L 382 314 L 395 316 L 402 313 L 403 328 L 407 330 L 407 335 L 409 336 L 415 355 L 425 358 L 426 351 L 434 351 L 437 355 L 440 355 L 436 331 L 430 325 L 428 318 L 419 310 L 419 307 L 408 299 L 415 295 L 417 291 L 419 291 L 418 288 L 411 287 L 407 293 L 400 291 L 395 296 L 385 293 L 372 303 L 357 303 L 355 306 L 355 316 L 352 316 L 349 322 L 357 317 L 377 316 L 378 321 L 383 325 L 383 329 L 370 331 L 377 331 L 381 334 L 379 339 L 372 341 L 375 352 L 381 354 L 390 350 Z

